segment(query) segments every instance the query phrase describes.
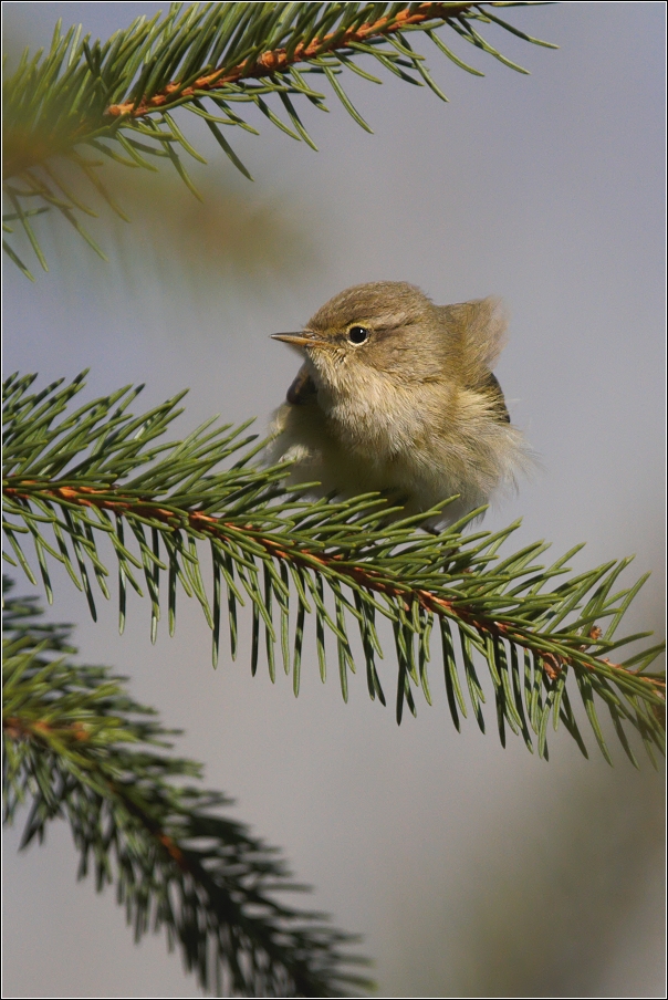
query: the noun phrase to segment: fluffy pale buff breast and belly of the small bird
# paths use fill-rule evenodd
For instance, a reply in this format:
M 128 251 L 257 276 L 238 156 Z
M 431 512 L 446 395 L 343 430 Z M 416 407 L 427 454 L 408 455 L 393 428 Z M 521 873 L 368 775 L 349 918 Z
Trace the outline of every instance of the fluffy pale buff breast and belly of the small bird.
M 384 385 L 374 372 L 364 393 L 332 398 L 316 389 L 304 365 L 290 395 L 295 402 L 274 415 L 268 457 L 293 460 L 289 483 L 315 480 L 314 496 L 382 491 L 407 517 L 458 494 L 440 518 L 430 519 L 432 525 L 447 524 L 493 493 L 514 488 L 531 463 L 522 435 L 508 421 L 500 389 L 490 396 L 457 388 L 443 407 L 442 390 L 429 383 L 403 389 Z

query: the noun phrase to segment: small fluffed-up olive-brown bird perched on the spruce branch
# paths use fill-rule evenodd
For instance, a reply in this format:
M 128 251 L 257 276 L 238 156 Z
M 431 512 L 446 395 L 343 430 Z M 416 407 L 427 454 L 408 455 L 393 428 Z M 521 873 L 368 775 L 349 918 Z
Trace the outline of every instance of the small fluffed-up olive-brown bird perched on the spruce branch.
M 436 530 L 513 487 L 531 465 L 492 367 L 505 331 L 500 302 L 435 305 L 418 288 L 346 289 L 299 333 L 274 333 L 305 358 L 275 415 L 269 460 L 292 459 L 291 485 L 316 496 L 383 491 L 398 517 L 448 498 Z

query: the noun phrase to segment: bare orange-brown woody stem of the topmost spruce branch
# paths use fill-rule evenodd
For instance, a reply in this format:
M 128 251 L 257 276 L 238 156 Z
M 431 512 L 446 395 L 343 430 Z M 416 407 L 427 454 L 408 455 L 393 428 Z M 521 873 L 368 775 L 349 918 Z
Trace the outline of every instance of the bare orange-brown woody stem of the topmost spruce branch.
M 244 60 L 238 66 L 220 66 L 200 76 L 190 86 L 182 87 L 180 83 L 168 83 L 164 90 L 154 94 L 148 100 L 142 101 L 135 105 L 135 102 L 128 101 L 124 104 L 112 104 L 106 110 L 106 114 L 114 118 L 123 115 L 129 115 L 133 118 L 140 118 L 150 114 L 153 111 L 168 104 L 170 100 L 181 100 L 182 97 L 191 97 L 192 94 L 200 91 L 213 91 L 225 87 L 229 83 L 238 83 L 240 80 L 259 79 L 262 76 L 271 76 L 273 73 L 282 73 L 289 66 L 295 63 L 306 62 L 310 59 L 316 59 L 327 52 L 335 52 L 337 49 L 346 49 L 355 42 L 365 42 L 376 35 L 393 34 L 396 31 L 414 25 L 421 24 L 425 21 L 436 19 L 448 20 L 465 13 L 476 3 L 420 3 L 418 8 L 410 9 L 413 4 L 407 4 L 393 19 L 378 18 L 372 23 L 359 24 L 355 29 L 340 32 L 333 31 L 323 35 L 321 39 L 313 39 L 307 45 L 300 42 L 294 51 L 288 58 L 285 49 L 272 49 L 263 52 L 257 59 Z

